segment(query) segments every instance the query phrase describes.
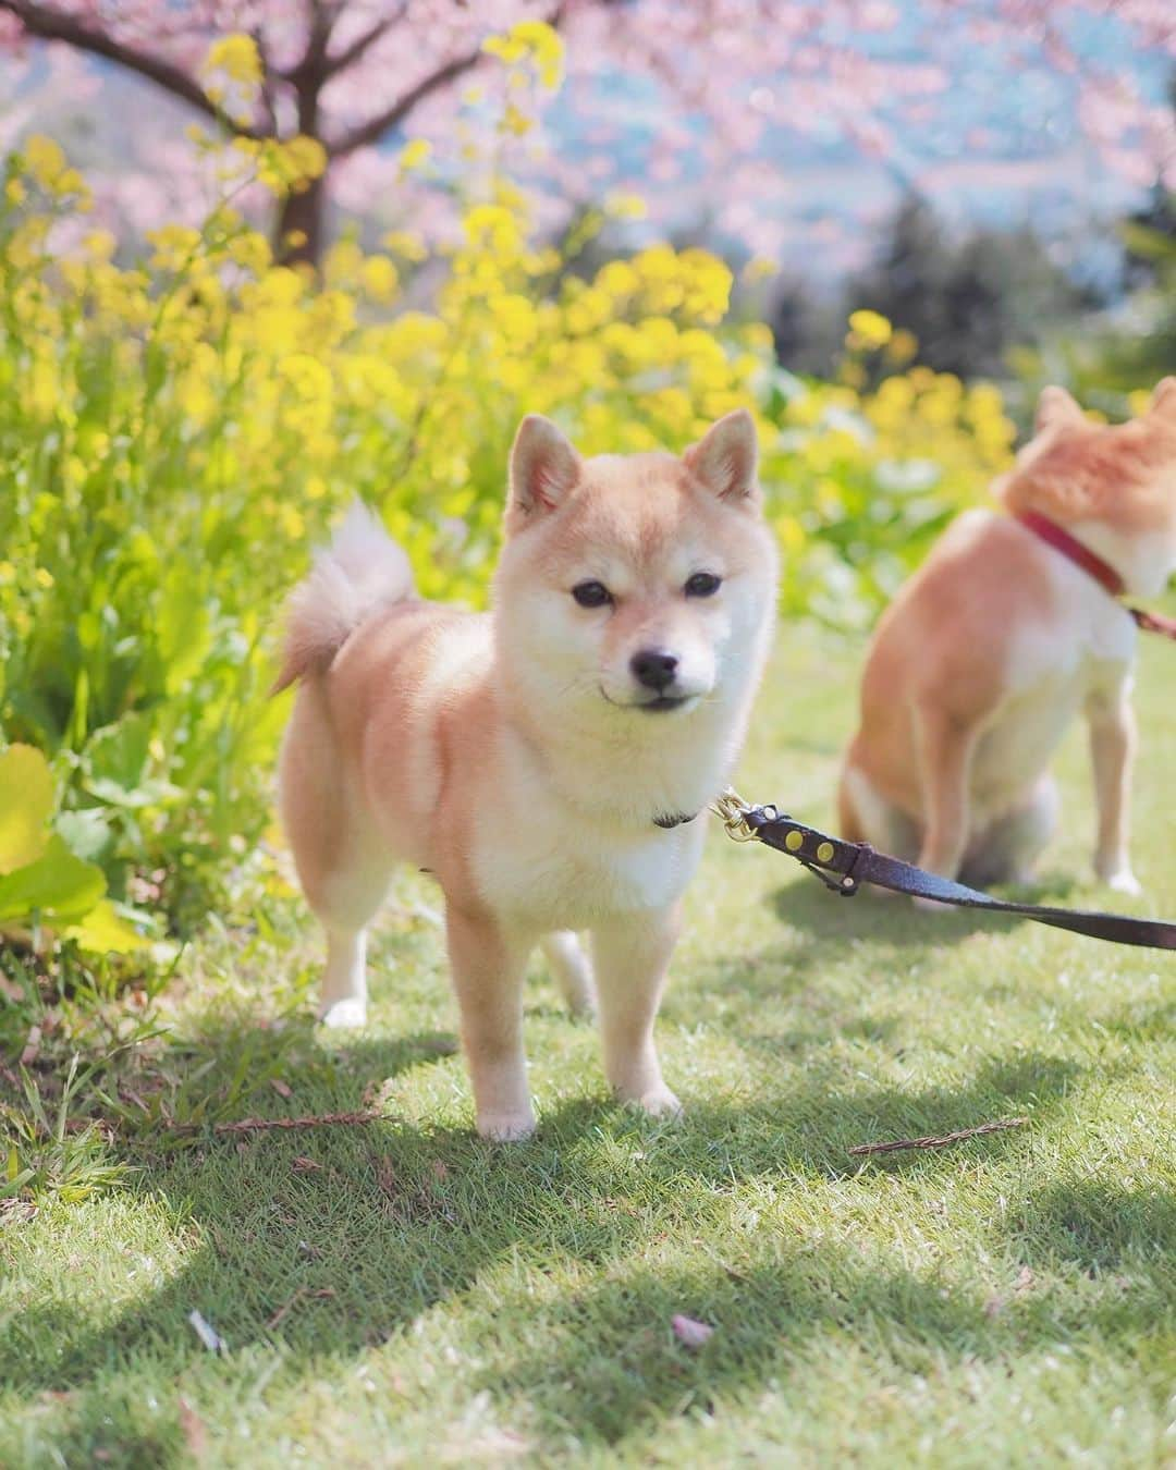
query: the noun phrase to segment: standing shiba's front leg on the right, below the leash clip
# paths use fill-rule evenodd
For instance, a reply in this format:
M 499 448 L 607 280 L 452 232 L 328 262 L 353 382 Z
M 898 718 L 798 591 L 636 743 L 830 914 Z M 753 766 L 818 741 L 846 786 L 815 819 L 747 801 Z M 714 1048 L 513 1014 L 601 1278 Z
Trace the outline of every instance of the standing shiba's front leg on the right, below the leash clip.
M 592 929 L 604 1073 L 625 1102 L 679 1113 L 662 1079 L 653 1023 L 678 938 L 678 906 L 610 919 Z

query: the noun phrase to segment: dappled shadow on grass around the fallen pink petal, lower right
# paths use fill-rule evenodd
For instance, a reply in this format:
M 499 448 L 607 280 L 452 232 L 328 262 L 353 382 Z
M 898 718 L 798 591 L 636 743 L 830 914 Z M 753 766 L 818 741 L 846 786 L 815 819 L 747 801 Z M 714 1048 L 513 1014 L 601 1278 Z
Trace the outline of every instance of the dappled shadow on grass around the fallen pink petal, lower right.
M 994 1245 L 1001 1235 L 992 1232 Z M 882 1360 L 888 1377 L 925 1379 L 1075 1338 L 1101 1339 L 1129 1361 L 1147 1354 L 1142 1324 L 1173 1310 L 1176 1197 L 1057 1185 L 1022 1202 L 1013 1238 L 1029 1270 L 1010 1273 L 1000 1295 L 816 1238 L 756 1241 L 735 1266 L 635 1270 L 541 1308 L 513 1364 L 485 1388 L 525 1395 L 554 1433 L 616 1445 L 642 1423 L 709 1413 L 766 1383 L 792 1379 L 804 1394 L 807 1360 L 851 1344 Z M 1085 1289 L 1067 1279 L 1075 1264 L 1092 1277 Z M 714 1329 L 700 1352 L 675 1339 L 678 1313 Z M 1160 1413 L 1164 1377 L 1151 1380 Z

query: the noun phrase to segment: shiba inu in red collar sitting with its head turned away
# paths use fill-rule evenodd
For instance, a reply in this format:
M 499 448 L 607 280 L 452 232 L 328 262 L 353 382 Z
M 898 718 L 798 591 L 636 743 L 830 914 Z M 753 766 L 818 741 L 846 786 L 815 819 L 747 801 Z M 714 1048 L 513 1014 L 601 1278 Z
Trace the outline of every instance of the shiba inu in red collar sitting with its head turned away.
M 1136 629 L 1113 592 L 1154 595 L 1176 567 L 1176 378 L 1113 428 L 1047 388 L 1033 440 L 995 488 L 1008 513 L 961 516 L 878 628 L 842 770 L 842 832 L 945 878 L 1025 879 L 1057 819 L 1047 763 L 1082 709 L 1095 872 L 1138 892 Z

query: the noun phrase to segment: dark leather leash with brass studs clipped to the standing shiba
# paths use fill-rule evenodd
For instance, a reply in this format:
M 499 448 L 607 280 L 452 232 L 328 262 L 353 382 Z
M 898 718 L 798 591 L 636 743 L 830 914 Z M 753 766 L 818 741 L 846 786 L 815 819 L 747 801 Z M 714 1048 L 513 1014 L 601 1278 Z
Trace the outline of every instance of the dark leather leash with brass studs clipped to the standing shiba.
M 994 898 L 950 878 L 928 873 L 913 863 L 878 853 L 869 842 L 845 842 L 816 828 L 795 822 L 773 806 L 748 806 L 728 788 L 711 807 L 723 822 L 728 836 L 736 842 L 763 842 L 766 847 L 795 857 L 826 888 L 842 898 L 853 898 L 863 883 L 889 888 L 911 898 L 933 898 L 957 908 L 983 908 L 988 913 L 1020 914 L 1055 929 L 1085 933 L 1111 944 L 1135 944 L 1152 950 L 1176 950 L 1176 923 L 1163 919 L 1138 919 L 1130 914 L 1107 914 L 1086 908 L 1051 908 L 1045 904 L 1019 904 Z

